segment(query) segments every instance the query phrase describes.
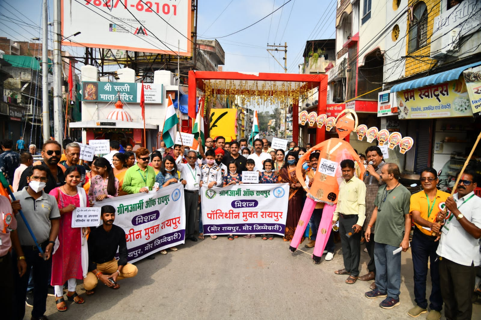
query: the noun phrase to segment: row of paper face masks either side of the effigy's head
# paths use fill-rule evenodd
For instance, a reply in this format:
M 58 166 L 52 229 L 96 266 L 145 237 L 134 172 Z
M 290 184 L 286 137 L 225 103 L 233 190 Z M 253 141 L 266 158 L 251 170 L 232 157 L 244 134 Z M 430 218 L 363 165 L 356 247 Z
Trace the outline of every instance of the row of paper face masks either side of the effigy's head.
M 304 125 L 309 123 L 309 126 L 314 126 L 317 124 L 317 128 L 322 128 L 326 125 L 326 130 L 330 131 L 336 126 L 336 118 L 328 117 L 325 114 L 317 115 L 316 111 L 308 113 L 307 111 L 301 111 L 299 113 L 299 123 Z M 410 136 L 403 136 L 399 132 L 390 133 L 386 129 L 379 130 L 377 127 L 367 128 L 366 124 L 359 124 L 355 130 L 357 134 L 357 140 L 363 140 L 366 137 L 367 142 L 371 143 L 374 140 L 378 140 L 380 146 L 387 145 L 388 148 L 394 149 L 399 145 L 399 152 L 405 154 L 406 151 L 411 149 L 414 144 L 413 138 Z

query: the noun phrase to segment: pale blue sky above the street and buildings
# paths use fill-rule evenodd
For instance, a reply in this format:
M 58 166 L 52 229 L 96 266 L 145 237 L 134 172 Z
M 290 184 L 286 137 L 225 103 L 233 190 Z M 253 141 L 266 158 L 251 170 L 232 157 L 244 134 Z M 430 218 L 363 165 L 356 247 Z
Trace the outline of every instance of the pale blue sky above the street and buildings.
M 41 37 L 38 28 L 41 2 L 0 0 L 0 37 L 19 41 Z M 337 0 L 199 0 L 198 38 L 217 39 L 226 55 L 223 70 L 237 72 L 284 73 L 283 66 L 266 49 L 267 44 L 287 42 L 288 72 L 299 73 L 298 64 L 303 62 L 307 40 L 335 38 L 336 3 Z M 52 8 L 53 0 L 49 0 L 50 17 Z M 252 25 L 265 16 L 264 20 Z M 225 37 L 249 25 L 252 26 Z M 63 50 L 76 56 L 85 53 L 76 47 L 63 47 Z M 284 52 L 273 54 L 283 64 Z

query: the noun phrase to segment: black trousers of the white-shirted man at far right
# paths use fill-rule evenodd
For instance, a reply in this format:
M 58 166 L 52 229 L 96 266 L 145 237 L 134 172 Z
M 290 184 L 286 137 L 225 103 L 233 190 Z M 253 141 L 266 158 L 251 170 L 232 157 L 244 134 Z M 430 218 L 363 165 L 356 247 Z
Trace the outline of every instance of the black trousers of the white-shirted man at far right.
M 471 320 L 475 268 L 463 266 L 446 258 L 439 258 L 441 295 L 446 320 Z

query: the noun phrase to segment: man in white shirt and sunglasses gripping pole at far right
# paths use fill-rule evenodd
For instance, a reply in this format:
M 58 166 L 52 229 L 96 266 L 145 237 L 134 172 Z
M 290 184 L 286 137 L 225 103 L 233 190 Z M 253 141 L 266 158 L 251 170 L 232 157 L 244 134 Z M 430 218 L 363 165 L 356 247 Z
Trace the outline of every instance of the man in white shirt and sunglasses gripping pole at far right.
M 436 250 L 446 319 L 471 319 L 472 316 L 475 267 L 480 265 L 481 198 L 474 194 L 477 180 L 476 171 L 466 170 L 459 180 L 457 193 L 446 199 L 446 208 L 451 214 L 446 217 Z

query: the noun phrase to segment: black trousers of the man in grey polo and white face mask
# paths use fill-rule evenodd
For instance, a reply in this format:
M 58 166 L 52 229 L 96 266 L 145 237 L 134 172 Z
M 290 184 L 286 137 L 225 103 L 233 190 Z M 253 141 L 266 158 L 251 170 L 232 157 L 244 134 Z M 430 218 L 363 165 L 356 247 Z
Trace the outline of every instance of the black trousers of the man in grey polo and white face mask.
M 47 242 L 40 245 L 45 251 Z M 28 277 L 30 269 L 33 267 L 33 309 L 32 317 L 39 318 L 43 316 L 46 310 L 47 294 L 49 286 L 49 277 L 52 269 L 52 259 L 45 261 L 38 256 L 38 250 L 32 246 L 22 246 L 27 263 L 27 270 L 23 277 L 20 277 L 17 271 L 17 253 L 12 250 L 13 279 L 15 282 L 15 302 L 14 317 L 15 320 L 23 320 L 25 316 L 25 297 L 27 294 Z

